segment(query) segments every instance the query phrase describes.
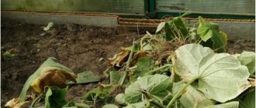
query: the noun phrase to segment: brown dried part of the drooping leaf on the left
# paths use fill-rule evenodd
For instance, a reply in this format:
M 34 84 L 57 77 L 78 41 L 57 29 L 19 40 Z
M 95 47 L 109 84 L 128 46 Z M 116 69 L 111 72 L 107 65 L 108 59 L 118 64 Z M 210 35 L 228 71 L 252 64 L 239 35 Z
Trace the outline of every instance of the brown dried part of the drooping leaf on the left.
M 67 80 L 76 82 L 74 73 L 66 73 L 60 69 L 50 69 L 36 78 L 31 86 L 37 93 L 43 93 L 45 86 L 64 88 Z

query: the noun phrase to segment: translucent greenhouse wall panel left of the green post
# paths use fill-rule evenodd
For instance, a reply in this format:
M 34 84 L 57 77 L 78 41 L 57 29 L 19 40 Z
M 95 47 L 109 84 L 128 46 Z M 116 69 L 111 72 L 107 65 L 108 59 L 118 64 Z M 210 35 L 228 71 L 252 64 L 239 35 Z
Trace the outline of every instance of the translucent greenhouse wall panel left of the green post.
M 144 14 L 144 0 L 2 0 L 2 10 Z

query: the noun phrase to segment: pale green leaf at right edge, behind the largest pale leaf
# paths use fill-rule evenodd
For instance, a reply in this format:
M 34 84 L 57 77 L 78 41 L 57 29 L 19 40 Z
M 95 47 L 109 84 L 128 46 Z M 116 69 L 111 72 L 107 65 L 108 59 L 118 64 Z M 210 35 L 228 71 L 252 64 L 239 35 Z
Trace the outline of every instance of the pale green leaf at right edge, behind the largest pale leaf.
M 247 66 L 249 73 L 252 75 L 255 72 L 255 52 L 242 52 L 237 56 L 243 66 Z

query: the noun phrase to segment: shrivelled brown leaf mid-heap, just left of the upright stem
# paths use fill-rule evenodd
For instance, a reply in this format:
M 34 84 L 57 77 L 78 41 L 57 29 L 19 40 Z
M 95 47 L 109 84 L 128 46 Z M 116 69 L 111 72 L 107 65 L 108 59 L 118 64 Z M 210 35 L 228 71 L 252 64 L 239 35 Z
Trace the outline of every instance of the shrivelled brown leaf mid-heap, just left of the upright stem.
M 129 50 L 123 50 L 123 52 L 119 52 L 112 58 L 109 58 L 109 64 L 111 66 L 120 67 L 122 66 L 123 62 L 125 62 L 125 60 L 128 58 L 129 54 L 130 54 Z

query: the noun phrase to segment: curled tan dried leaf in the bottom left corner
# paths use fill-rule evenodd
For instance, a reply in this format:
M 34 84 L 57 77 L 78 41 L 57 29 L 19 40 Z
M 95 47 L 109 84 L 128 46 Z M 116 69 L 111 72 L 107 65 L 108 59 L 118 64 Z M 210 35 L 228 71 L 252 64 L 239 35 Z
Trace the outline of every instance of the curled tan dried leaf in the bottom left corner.
M 11 107 L 11 108 L 23 108 L 29 105 L 29 101 L 19 103 L 19 98 L 13 98 L 12 100 L 9 100 L 7 103 L 5 103 L 5 107 Z

